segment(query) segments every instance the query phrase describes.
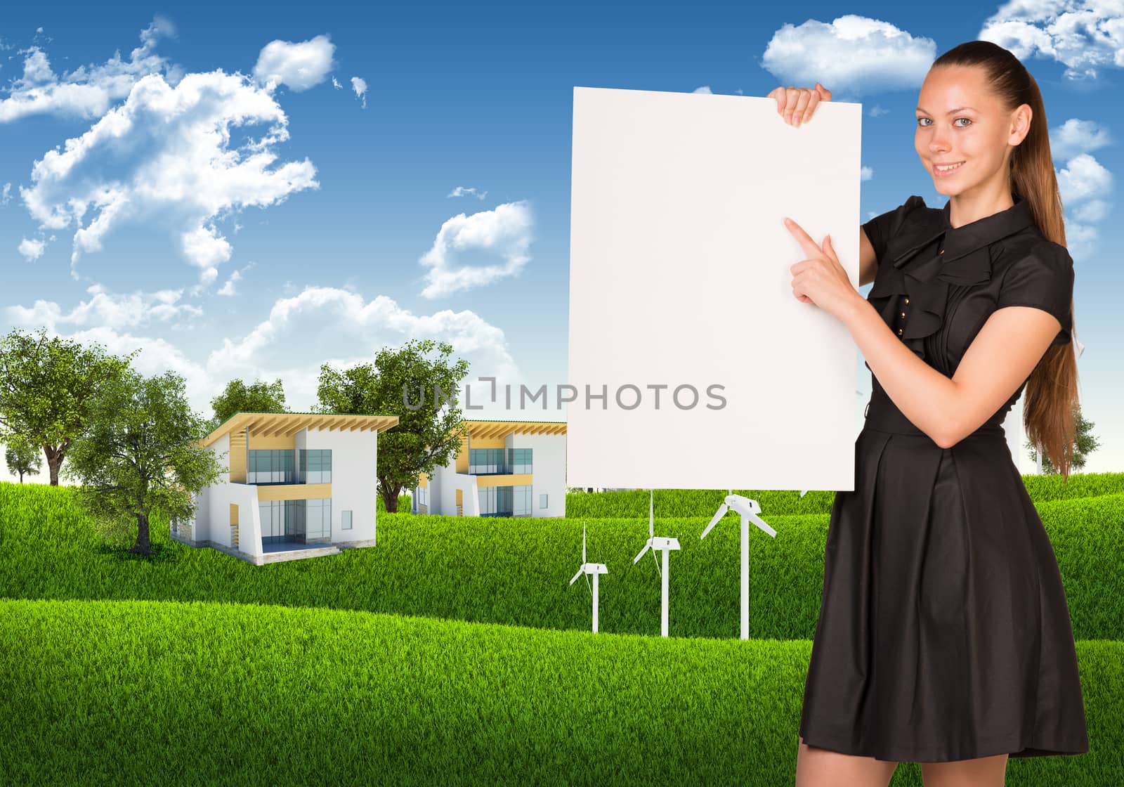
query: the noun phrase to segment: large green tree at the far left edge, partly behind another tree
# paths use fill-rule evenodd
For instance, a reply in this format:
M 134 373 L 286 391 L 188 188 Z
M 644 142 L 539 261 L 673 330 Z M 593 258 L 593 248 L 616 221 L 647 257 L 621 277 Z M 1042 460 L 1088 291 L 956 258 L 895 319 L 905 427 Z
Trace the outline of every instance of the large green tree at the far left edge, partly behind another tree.
M 0 442 L 40 447 L 51 485 L 58 486 L 58 468 L 87 426 L 90 398 L 128 368 L 133 353 L 117 358 L 98 344 L 88 350 L 58 336 L 48 340 L 42 328 L 38 334 L 13 329 L 0 341 Z

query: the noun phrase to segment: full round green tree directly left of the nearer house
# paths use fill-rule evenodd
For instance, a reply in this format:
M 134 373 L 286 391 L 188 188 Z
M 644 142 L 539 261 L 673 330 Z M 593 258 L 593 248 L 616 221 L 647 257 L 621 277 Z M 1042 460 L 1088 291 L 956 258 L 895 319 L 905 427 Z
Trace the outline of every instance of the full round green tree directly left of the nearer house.
M 103 530 L 126 527 L 130 552 L 152 554 L 154 514 L 194 515 L 192 495 L 226 468 L 199 445 L 207 422 L 184 396 L 183 378 L 169 371 L 143 378 L 133 370 L 103 385 L 90 402 L 90 428 L 70 449 L 67 477 L 80 479 L 76 500 Z

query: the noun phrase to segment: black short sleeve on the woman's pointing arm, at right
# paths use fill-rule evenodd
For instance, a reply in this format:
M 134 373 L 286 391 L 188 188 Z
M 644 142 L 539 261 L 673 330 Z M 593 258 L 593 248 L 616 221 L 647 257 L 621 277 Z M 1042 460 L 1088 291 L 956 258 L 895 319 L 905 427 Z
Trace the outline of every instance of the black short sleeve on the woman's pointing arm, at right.
M 996 308 L 1033 306 L 1049 311 L 1061 323 L 1061 331 L 1051 344 L 1069 344 L 1072 301 L 1073 259 L 1064 246 L 1046 241 L 1010 264 L 1004 273 Z

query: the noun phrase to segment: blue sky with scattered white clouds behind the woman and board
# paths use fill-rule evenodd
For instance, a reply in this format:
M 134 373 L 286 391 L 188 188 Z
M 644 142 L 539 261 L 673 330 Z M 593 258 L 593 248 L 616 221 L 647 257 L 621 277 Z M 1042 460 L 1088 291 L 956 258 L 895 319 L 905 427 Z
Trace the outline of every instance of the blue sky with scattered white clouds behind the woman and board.
M 1121 471 L 1124 25 L 1107 3 L 1054 8 L 8 3 L 0 329 L 140 347 L 134 365 L 182 373 L 207 416 L 239 377 L 281 378 L 307 410 L 321 363 L 413 337 L 450 341 L 470 379 L 553 390 L 575 85 L 765 96 L 819 80 L 863 103 L 861 221 L 909 195 L 944 203 L 913 147 L 917 92 L 936 55 L 989 38 L 1043 92 L 1102 441 L 1086 471 Z M 565 419 L 470 417 L 484 416 Z

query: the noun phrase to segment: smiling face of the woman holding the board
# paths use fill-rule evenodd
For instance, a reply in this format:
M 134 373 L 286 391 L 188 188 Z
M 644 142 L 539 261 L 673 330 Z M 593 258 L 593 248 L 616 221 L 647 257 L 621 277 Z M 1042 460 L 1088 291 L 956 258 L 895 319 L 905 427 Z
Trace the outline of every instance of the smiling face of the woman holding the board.
M 937 66 L 925 76 L 917 107 L 914 147 L 939 193 L 951 197 L 977 187 L 989 191 L 997 182 L 1009 182 L 1009 150 L 1026 135 L 1028 106 L 1018 108 L 1025 123 L 1016 123 L 1018 109 L 1004 110 L 982 69 Z M 958 163 L 948 173 L 939 169 Z

